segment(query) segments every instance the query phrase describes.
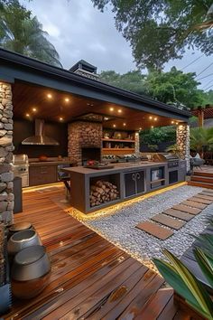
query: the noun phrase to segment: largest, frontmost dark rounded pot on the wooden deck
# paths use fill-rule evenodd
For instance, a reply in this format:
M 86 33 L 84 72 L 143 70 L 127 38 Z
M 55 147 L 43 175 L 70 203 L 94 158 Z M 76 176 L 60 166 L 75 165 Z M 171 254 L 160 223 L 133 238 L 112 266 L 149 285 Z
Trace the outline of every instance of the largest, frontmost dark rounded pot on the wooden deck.
M 49 284 L 51 262 L 43 246 L 23 249 L 14 257 L 12 292 L 20 299 L 38 296 Z

